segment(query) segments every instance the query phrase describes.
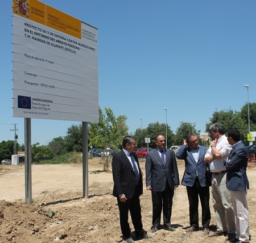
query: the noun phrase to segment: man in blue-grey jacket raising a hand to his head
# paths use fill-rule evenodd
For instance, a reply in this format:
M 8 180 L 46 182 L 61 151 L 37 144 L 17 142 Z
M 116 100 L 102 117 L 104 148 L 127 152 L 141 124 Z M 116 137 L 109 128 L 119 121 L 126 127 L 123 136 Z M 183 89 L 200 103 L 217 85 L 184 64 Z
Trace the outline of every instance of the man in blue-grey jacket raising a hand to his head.
M 199 231 L 199 198 L 202 207 L 203 234 L 209 234 L 210 232 L 210 185 L 205 177 L 207 164 L 204 162 L 207 149 L 207 147 L 199 145 L 196 133 L 189 132 L 184 144 L 176 153 L 177 158 L 185 161 L 185 171 L 181 185 L 187 187 L 191 225 L 186 229 L 186 232 Z

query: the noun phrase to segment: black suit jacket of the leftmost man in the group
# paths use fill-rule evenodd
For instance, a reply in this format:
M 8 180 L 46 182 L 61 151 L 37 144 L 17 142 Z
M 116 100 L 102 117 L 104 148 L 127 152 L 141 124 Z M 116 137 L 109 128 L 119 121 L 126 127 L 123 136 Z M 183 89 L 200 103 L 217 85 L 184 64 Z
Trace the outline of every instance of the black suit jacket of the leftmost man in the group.
M 139 194 L 142 195 L 142 172 L 139 167 L 138 157 L 133 153 L 133 157 L 137 161 L 139 169 Z M 119 153 L 115 153 L 112 159 L 112 173 L 114 181 L 113 196 L 119 196 L 125 194 L 127 199 L 132 198 L 135 190 L 135 172 L 131 162 L 127 158 L 125 152 L 121 150 Z

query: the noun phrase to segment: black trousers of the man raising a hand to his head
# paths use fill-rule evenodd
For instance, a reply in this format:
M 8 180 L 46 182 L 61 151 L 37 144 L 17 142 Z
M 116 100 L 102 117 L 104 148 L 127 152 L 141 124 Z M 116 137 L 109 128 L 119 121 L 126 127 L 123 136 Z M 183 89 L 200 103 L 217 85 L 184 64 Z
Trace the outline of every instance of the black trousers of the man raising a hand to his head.
M 199 198 L 202 207 L 203 228 L 209 228 L 210 224 L 210 189 L 209 186 L 200 186 L 199 179 L 196 178 L 193 186 L 187 186 L 189 202 L 189 221 L 190 225 L 199 228 Z

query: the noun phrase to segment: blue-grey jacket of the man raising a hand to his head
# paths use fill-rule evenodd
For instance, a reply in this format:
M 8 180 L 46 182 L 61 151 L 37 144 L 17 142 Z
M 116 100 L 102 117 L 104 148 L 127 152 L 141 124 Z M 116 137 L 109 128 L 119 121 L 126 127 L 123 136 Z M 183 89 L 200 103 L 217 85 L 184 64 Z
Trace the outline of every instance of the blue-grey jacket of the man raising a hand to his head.
M 204 162 L 204 156 L 207 152 L 207 147 L 199 145 L 199 160 L 196 162 L 193 154 L 191 152 L 190 146 L 182 145 L 180 149 L 176 152 L 176 157 L 180 160 L 185 161 L 185 171 L 181 181 L 183 186 L 193 186 L 196 180 L 196 173 L 199 178 L 201 186 L 208 185 L 205 178 L 205 171 L 207 170 L 207 165 Z

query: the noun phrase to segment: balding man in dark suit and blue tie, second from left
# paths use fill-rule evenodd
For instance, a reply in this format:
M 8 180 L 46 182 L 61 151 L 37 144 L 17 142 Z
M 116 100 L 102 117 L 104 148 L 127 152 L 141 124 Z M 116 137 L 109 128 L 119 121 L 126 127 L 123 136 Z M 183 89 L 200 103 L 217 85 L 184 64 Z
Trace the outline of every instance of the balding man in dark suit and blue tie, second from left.
M 163 134 L 155 136 L 156 149 L 147 153 L 146 186 L 152 194 L 152 232 L 160 227 L 163 208 L 163 227 L 167 231 L 175 231 L 171 226 L 172 198 L 174 190 L 179 186 L 179 172 L 173 150 L 166 149 Z

